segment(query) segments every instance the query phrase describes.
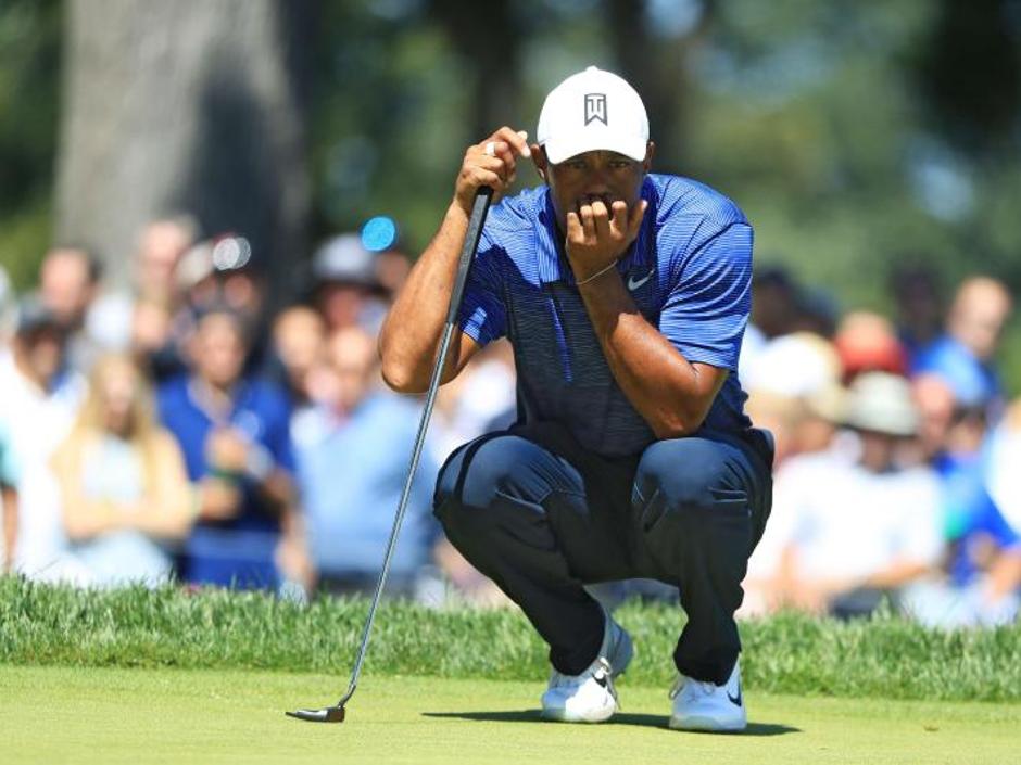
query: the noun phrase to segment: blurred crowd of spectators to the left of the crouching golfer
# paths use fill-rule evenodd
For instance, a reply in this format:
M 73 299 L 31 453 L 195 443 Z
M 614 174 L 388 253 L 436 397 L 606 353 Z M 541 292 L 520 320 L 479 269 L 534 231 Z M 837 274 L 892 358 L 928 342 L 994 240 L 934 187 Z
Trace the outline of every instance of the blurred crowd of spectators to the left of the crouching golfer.
M 378 238 L 377 238 L 378 239 Z M 130 289 L 86 248 L 47 253 L 14 295 L 0 271 L 0 488 L 7 570 L 80 586 L 371 591 L 421 403 L 390 393 L 376 334 L 411 263 L 360 234 L 325 242 L 293 303 L 249 243 L 156 220 Z M 508 347 L 438 398 L 389 591 L 499 602 L 431 514 L 439 464 L 513 419 Z

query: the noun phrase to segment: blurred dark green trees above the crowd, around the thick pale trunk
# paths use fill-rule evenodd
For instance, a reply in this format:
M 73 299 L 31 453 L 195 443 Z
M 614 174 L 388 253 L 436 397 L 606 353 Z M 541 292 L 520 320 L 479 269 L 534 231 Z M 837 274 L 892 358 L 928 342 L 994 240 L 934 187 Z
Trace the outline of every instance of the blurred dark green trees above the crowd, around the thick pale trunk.
M 534 131 L 545 92 L 594 63 L 643 93 L 658 169 L 741 204 L 758 264 L 843 307 L 887 308 L 900 264 L 932 267 L 946 291 L 978 271 L 1018 291 L 1021 0 L 472 9 L 317 4 L 312 241 L 389 214 L 417 252 L 465 146 L 502 124 Z M 61 43 L 59 0 L 0 0 L 0 257 L 21 285 L 50 237 Z M 1021 360 L 1008 372 L 1021 383 Z

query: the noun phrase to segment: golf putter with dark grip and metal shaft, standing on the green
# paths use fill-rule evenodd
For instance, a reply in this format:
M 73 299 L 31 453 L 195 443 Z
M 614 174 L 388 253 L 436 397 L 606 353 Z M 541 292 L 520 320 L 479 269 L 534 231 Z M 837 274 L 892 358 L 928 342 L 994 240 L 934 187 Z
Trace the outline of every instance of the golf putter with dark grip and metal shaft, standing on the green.
M 393 518 L 393 527 L 390 530 L 390 540 L 387 543 L 387 554 L 383 557 L 382 570 L 379 572 L 379 578 L 376 582 L 376 592 L 373 596 L 373 604 L 369 607 L 368 617 L 365 620 L 365 627 L 362 629 L 362 646 L 358 648 L 354 670 L 351 672 L 351 681 L 348 685 L 348 692 L 343 694 L 335 706 L 324 706 L 319 710 L 302 709 L 295 710 L 294 712 L 287 712 L 286 714 L 290 717 L 297 717 L 298 719 L 304 719 L 310 723 L 344 722 L 344 704 L 354 696 L 355 688 L 357 688 L 358 685 L 358 676 L 362 674 L 362 664 L 365 662 L 369 634 L 373 632 L 373 621 L 376 619 L 376 609 L 379 605 L 379 598 L 387 584 L 387 574 L 390 571 L 390 559 L 393 557 L 394 547 L 396 547 L 398 534 L 401 532 L 401 522 L 404 520 L 407 498 L 412 490 L 412 480 L 415 477 L 415 470 L 418 468 L 418 459 L 421 457 L 423 445 L 426 441 L 426 431 L 429 428 L 429 418 L 432 415 L 436 394 L 440 387 L 440 377 L 443 371 L 443 365 L 446 364 L 446 353 L 450 349 L 451 340 L 457 328 L 457 313 L 461 310 L 461 298 L 464 295 L 465 282 L 468 280 L 468 269 L 471 267 L 471 259 L 475 257 L 476 250 L 479 246 L 482 224 L 486 220 L 486 214 L 489 212 L 489 203 L 492 199 L 493 190 L 487 186 L 480 187 L 478 192 L 476 192 L 475 202 L 471 207 L 471 217 L 468 219 L 468 231 L 465 234 L 465 244 L 461 251 L 461 258 L 457 262 L 457 273 L 454 278 L 454 289 L 451 292 L 450 309 L 446 311 L 446 326 L 443 329 L 443 337 L 440 341 L 440 352 L 437 354 L 436 367 L 432 370 L 432 380 L 429 382 L 429 392 L 426 394 L 426 404 L 421 412 L 421 421 L 418 423 L 418 435 L 415 438 L 415 448 L 412 450 L 411 467 L 408 467 L 407 470 L 407 479 L 404 481 L 401 502 L 398 505 L 398 511 Z

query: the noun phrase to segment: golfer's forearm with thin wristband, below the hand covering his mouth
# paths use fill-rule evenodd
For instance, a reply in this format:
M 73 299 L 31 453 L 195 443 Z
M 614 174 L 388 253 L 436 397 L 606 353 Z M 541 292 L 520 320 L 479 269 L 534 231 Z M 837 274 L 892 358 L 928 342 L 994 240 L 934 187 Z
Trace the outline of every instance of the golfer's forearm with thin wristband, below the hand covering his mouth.
M 579 290 L 614 379 L 656 437 L 698 430 L 718 385 L 645 320 L 616 269 Z

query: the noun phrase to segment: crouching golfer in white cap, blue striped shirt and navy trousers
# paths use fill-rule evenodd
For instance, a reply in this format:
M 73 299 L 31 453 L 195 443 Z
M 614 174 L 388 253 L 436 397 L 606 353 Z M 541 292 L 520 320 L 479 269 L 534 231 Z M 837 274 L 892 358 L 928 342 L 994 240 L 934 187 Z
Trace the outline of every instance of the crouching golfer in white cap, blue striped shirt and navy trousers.
M 671 727 L 746 725 L 733 614 L 771 496 L 771 439 L 736 378 L 752 227 L 708 187 L 650 175 L 639 94 L 595 67 L 546 98 L 538 141 L 468 148 L 454 199 L 383 324 L 387 382 L 427 387 L 477 190 L 482 232 L 443 379 L 506 336 L 518 419 L 456 450 L 434 512 L 453 545 L 550 646 L 546 718 L 601 722 L 631 638 L 583 585 L 679 585 L 688 623 Z M 545 186 L 502 199 L 517 157 Z

